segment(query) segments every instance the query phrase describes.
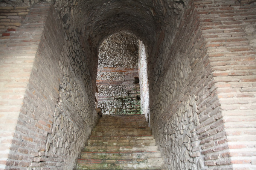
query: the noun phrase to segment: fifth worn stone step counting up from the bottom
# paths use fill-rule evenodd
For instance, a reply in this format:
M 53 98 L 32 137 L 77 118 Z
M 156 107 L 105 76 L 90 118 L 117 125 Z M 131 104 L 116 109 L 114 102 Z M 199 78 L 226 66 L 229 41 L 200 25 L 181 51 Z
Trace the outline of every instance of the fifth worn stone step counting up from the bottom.
M 116 139 L 116 140 L 136 140 L 136 139 L 154 139 L 153 135 L 122 135 L 122 136 L 90 136 L 90 139 Z

